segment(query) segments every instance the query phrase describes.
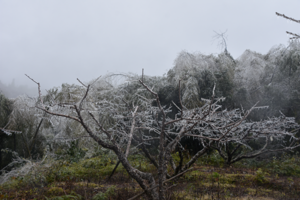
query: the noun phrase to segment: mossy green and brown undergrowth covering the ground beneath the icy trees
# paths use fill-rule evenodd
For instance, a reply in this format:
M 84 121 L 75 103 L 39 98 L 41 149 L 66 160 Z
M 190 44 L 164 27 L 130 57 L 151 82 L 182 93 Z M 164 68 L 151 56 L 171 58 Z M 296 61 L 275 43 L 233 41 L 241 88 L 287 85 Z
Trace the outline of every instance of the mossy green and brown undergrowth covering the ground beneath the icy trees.
M 178 164 L 180 160 L 178 153 L 172 154 L 172 157 L 175 164 Z M 188 161 L 189 157 L 190 155 L 187 153 L 184 154 L 183 164 Z M 1 184 L 0 199 L 13 199 L 17 196 L 29 196 L 31 199 L 39 196 L 37 199 L 59 200 L 107 199 L 109 195 L 120 196 L 119 190 L 124 187 L 126 189 L 122 192 L 127 192 L 128 196 L 132 196 L 130 189 L 133 189 L 134 192 L 140 190 L 121 164 L 113 175 L 112 181 L 117 182 L 113 183 L 115 187 L 111 187 L 110 183 L 106 182 L 108 175 L 117 163 L 115 155 L 102 154 L 92 158 L 74 160 L 62 156 L 46 158 L 44 162 L 36 164 L 32 172 L 11 177 L 9 181 Z M 157 179 L 157 169 L 143 155 L 139 153 L 130 155 L 128 160 L 138 170 L 152 172 L 154 178 Z M 198 194 L 192 194 L 192 192 L 198 192 L 199 188 L 202 189 L 201 192 L 222 191 L 224 198 L 220 199 L 234 196 L 234 191 L 237 190 L 238 195 L 253 196 L 270 195 L 269 193 L 280 196 L 282 192 L 286 196 L 286 193 L 291 192 L 294 188 L 297 188 L 295 192 L 298 192 L 300 163 L 297 155 L 283 154 L 280 158 L 274 157 L 267 163 L 255 162 L 255 165 L 245 164 L 245 162 L 253 164 L 248 159 L 236 162 L 232 167 L 224 167 L 222 158 L 213 151 L 200 157 L 193 165 L 193 170 L 168 184 L 181 185 L 174 188 L 177 189 L 178 195 L 186 197 L 183 199 L 194 199 L 192 195 L 197 196 Z M 169 167 L 168 172 L 172 174 L 173 169 Z M 131 186 L 127 188 L 120 184 Z M 132 187 L 132 184 L 136 186 Z M 15 194 L 8 197 L 7 192 Z M 211 195 L 209 192 L 203 193 L 203 195 L 209 197 Z M 282 196 L 284 196 L 283 194 Z M 85 195 L 89 195 L 89 197 L 85 197 Z M 170 199 L 180 198 L 171 197 Z

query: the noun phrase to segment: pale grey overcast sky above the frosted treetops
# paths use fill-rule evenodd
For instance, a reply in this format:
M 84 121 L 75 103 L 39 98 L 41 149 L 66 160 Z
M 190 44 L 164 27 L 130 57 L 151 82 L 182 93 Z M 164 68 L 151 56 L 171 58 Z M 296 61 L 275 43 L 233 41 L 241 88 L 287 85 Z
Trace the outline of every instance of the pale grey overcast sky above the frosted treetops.
M 183 49 L 219 53 L 213 30 L 227 29 L 227 50 L 266 53 L 286 45 L 300 23 L 300 0 L 0 0 L 0 81 L 42 88 L 107 72 L 162 75 Z M 42 89 L 43 90 L 43 89 Z

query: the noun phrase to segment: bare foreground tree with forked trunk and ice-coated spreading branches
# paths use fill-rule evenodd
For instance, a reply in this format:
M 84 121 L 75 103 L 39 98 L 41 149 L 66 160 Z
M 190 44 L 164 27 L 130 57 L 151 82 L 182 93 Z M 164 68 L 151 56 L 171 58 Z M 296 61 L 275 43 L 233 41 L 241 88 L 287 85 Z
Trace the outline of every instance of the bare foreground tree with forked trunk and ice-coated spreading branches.
M 48 103 L 40 93 L 40 84 L 30 78 L 38 85 L 39 98 L 34 107 L 27 109 L 37 109 L 38 116 L 46 114 L 44 120 L 53 126 L 62 120 L 77 123 L 77 127 L 85 132 L 77 137 L 89 137 L 101 147 L 113 151 L 128 174 L 151 199 L 164 199 L 164 182 L 167 178 L 170 180 L 184 173 L 213 144 L 218 148 L 226 146 L 228 142 L 247 146 L 247 139 L 250 138 L 280 140 L 285 135 L 290 136 L 292 142 L 297 140 L 294 136 L 295 131 L 287 130 L 298 128 L 293 118 L 280 117 L 270 118 L 265 122 L 247 122 L 246 117 L 257 107 L 253 106 L 242 112 L 238 109 L 222 110 L 218 103 L 224 98 L 215 98 L 214 87 L 209 99 L 201 99 L 202 105 L 187 108 L 182 102 L 181 82 L 188 81 L 189 77 L 186 76 L 193 68 L 192 66 L 186 70 L 182 67 L 182 76 L 176 74 L 177 104 L 162 105 L 155 92 L 155 81 L 147 80 L 143 75 L 127 79 L 126 83 L 110 90 L 109 93 L 105 92 L 107 83 L 102 79 L 95 79 L 89 83 L 78 80 L 81 86 L 77 86 L 68 94 L 64 93 L 66 97 L 61 97 L 59 92 L 49 92 Z M 94 87 L 96 84 L 97 87 L 102 85 L 103 89 Z M 132 85 L 130 89 L 134 90 L 134 95 L 126 96 L 127 91 L 124 88 L 128 85 Z M 172 109 L 176 110 L 174 116 L 170 115 Z M 182 156 L 179 163 L 176 163 L 171 153 L 181 153 L 183 147 L 180 140 L 183 137 L 199 142 L 202 149 L 186 163 L 182 162 Z M 158 149 L 158 157 L 149 153 L 146 148 L 149 145 Z M 158 180 L 155 181 L 152 173 L 140 171 L 128 161 L 128 154 L 139 146 L 145 157 L 157 167 Z M 285 148 L 292 149 L 295 146 L 293 144 Z M 168 166 L 173 170 L 168 172 Z

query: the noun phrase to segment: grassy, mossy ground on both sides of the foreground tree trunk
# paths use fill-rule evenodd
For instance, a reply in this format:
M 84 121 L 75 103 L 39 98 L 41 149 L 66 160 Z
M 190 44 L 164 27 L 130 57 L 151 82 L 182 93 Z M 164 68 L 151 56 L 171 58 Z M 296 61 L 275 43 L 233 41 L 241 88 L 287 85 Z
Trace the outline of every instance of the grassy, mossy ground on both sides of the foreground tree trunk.
M 214 155 L 207 156 L 206 160 L 200 159 L 194 164 L 193 170 L 168 182 L 166 199 L 300 197 L 300 178 L 297 175 L 278 175 L 274 168 L 279 170 L 279 166 L 254 168 L 243 167 L 243 164 L 237 163 L 232 167 L 223 168 L 216 164 L 221 160 L 213 160 L 213 157 L 218 159 Z M 129 159 L 139 170 L 150 171 L 157 176 L 155 167 L 141 155 L 132 155 Z M 274 161 L 273 165 L 278 165 L 276 160 Z M 51 164 L 40 164 L 31 173 L 11 177 L 9 181 L 0 185 L 0 199 L 128 199 L 140 193 L 139 185 L 129 177 L 121 165 L 112 178 L 107 180 L 115 162 L 115 157 L 104 155 L 73 163 L 64 159 L 49 159 L 47 163 Z M 287 161 L 287 164 L 290 162 Z M 284 162 L 281 160 L 280 163 Z M 270 163 L 268 164 L 270 167 Z M 297 168 L 294 170 L 297 172 Z M 169 169 L 169 173 L 172 173 L 172 169 Z M 147 197 L 143 195 L 136 199 Z

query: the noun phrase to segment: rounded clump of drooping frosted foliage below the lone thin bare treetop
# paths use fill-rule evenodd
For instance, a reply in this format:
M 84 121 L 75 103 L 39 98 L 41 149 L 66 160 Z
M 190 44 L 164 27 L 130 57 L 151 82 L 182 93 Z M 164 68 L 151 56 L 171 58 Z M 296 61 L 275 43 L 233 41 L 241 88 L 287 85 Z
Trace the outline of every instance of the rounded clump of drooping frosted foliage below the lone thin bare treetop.
M 217 56 L 204 55 L 200 52 L 189 53 L 185 50 L 178 53 L 174 67 L 168 71 L 168 81 L 175 86 L 182 81 L 182 102 L 187 107 L 200 105 L 200 98 L 211 96 L 216 84 L 217 96 L 229 97 L 233 86 L 235 61 L 229 53 Z

